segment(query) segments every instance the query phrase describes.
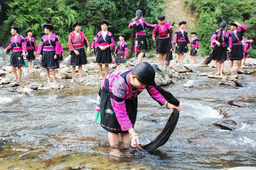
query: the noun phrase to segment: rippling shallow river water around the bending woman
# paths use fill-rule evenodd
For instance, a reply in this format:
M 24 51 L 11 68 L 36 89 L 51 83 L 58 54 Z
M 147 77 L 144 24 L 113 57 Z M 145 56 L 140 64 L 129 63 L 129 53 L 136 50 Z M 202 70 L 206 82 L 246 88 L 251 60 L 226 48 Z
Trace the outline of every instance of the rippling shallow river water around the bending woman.
M 98 86 L 30 96 L 2 90 L 0 169 L 205 170 L 255 166 L 255 76 L 243 75 L 241 81 L 246 87 L 240 88 L 218 85 L 220 80 L 198 73 L 191 77 L 194 88 L 183 87 L 187 79 L 164 87 L 183 103 L 184 110 L 168 142 L 152 153 L 108 147 L 107 132 L 93 122 Z M 242 97 L 250 99 L 238 102 L 244 107 L 229 105 L 229 100 Z M 171 112 L 146 90 L 138 102 L 135 131 L 144 145 L 161 132 Z M 236 129 L 212 125 L 220 120 L 234 120 Z M 113 154 L 116 152 L 118 156 Z

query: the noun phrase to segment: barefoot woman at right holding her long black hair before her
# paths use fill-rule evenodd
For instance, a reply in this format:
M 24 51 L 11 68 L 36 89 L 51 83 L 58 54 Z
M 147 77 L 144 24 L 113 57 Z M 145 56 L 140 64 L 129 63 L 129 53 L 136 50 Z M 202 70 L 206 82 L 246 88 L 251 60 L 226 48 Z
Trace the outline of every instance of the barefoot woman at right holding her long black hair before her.
M 217 73 L 216 75 L 223 76 L 224 61 L 227 59 L 227 51 L 232 47 L 232 39 L 229 36 L 229 31 L 226 30 L 227 24 L 220 23 L 220 29 L 216 30 L 211 36 L 211 47 L 213 47 L 213 60 L 216 61 Z M 220 45 L 222 47 L 220 47 Z

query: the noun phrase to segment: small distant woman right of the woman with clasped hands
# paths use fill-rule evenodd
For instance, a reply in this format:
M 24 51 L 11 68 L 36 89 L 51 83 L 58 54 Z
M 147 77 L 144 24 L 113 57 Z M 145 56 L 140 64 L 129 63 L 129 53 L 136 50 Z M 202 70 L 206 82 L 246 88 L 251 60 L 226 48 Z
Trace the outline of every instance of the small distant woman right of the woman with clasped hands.
M 128 55 L 128 44 L 124 41 L 124 34 L 119 35 L 119 40 L 115 47 L 115 64 L 119 65 L 124 63 L 123 59 Z M 123 61 L 122 61 L 123 60 Z M 122 61 L 122 62 L 121 62 Z

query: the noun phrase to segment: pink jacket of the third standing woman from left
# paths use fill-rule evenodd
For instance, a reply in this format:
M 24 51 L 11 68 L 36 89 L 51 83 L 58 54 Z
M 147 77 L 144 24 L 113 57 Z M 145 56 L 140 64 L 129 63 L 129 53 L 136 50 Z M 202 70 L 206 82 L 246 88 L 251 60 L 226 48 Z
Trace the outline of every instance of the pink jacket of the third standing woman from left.
M 44 35 L 41 39 L 41 42 L 39 44 L 39 47 L 37 49 L 36 54 L 43 54 L 43 47 L 45 46 L 53 46 L 55 47 L 55 55 L 60 55 L 60 44 L 59 44 L 59 40 L 57 38 L 57 36 L 55 34 L 51 34 L 50 36 L 48 36 L 47 34 Z

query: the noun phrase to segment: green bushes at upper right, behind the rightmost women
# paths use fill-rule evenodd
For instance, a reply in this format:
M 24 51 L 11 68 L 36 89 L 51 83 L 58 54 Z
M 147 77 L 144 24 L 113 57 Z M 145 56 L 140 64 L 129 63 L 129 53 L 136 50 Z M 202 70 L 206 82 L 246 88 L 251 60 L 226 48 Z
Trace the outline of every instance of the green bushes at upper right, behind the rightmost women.
M 191 0 L 190 9 L 194 12 L 197 21 L 197 37 L 200 39 L 200 54 L 209 55 L 210 38 L 214 31 L 219 29 L 221 22 L 237 21 L 248 27 L 244 34 L 247 38 L 256 35 L 256 1 L 252 0 Z M 228 29 L 230 27 L 228 26 Z M 256 45 L 253 44 L 253 48 Z M 256 57 L 256 52 L 250 50 L 252 57 Z

